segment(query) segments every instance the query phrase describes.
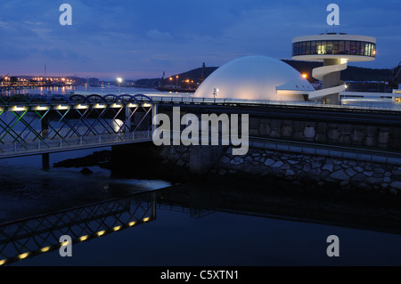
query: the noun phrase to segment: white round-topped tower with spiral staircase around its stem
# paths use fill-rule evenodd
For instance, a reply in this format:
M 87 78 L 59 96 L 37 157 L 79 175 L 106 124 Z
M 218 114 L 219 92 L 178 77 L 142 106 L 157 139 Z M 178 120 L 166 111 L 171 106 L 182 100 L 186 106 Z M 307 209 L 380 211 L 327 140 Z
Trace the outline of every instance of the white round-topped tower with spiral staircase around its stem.
M 340 92 L 346 88 L 340 72 L 347 69 L 348 61 L 374 61 L 375 57 L 374 37 L 328 33 L 292 39 L 292 59 L 323 61 L 323 67 L 312 72 L 312 77 L 323 81 L 323 88 L 309 93 L 309 100 L 339 104 Z

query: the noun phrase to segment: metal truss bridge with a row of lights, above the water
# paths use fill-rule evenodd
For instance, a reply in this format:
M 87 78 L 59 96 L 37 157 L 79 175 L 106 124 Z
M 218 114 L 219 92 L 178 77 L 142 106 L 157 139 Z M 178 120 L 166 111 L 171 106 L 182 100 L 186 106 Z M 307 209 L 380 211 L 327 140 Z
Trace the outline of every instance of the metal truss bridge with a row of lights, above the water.
M 0 97 L 0 158 L 151 141 L 143 94 Z

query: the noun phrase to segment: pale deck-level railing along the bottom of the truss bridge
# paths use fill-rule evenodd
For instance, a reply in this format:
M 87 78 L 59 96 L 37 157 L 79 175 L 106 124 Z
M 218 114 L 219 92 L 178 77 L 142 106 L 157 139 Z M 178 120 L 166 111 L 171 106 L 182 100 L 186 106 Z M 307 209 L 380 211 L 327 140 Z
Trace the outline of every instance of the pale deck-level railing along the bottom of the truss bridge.
M 151 141 L 151 131 L 136 131 L 133 133 L 101 134 L 62 139 L 52 139 L 38 142 L 18 142 L 0 145 L 0 158 L 18 154 L 44 153 L 57 150 L 83 149 L 93 146 L 108 146 L 129 142 Z

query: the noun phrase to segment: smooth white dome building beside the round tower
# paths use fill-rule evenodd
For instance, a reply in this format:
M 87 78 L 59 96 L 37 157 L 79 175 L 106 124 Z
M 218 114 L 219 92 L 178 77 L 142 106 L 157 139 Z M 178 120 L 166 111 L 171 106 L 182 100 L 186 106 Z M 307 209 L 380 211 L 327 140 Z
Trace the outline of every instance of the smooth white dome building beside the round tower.
M 287 63 L 267 56 L 246 56 L 214 71 L 195 97 L 251 101 L 305 101 L 314 87 Z

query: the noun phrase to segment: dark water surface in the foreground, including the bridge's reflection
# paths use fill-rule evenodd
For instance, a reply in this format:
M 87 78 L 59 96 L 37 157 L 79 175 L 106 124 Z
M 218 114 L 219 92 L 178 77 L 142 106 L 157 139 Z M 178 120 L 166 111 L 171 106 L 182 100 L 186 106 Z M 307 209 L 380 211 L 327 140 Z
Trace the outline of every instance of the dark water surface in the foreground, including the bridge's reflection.
M 85 154 L 51 158 L 55 162 Z M 397 207 L 311 201 L 268 184 L 170 187 L 91 169 L 90 175 L 79 173 L 80 168 L 44 172 L 40 156 L 2 160 L 0 264 L 401 264 L 401 230 L 397 220 L 385 220 L 386 215 L 399 215 Z M 377 215 L 383 222 L 374 219 Z M 65 234 L 73 241 L 71 257 L 59 253 Z M 326 254 L 331 235 L 340 239 L 339 257 Z

